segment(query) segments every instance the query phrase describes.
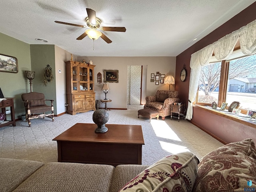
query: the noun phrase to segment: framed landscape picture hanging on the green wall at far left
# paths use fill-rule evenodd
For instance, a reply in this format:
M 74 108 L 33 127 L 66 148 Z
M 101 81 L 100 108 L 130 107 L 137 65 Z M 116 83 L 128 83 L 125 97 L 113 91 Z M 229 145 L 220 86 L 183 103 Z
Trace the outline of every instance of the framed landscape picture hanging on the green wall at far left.
M 0 54 L 0 71 L 18 73 L 18 60 L 16 57 Z

